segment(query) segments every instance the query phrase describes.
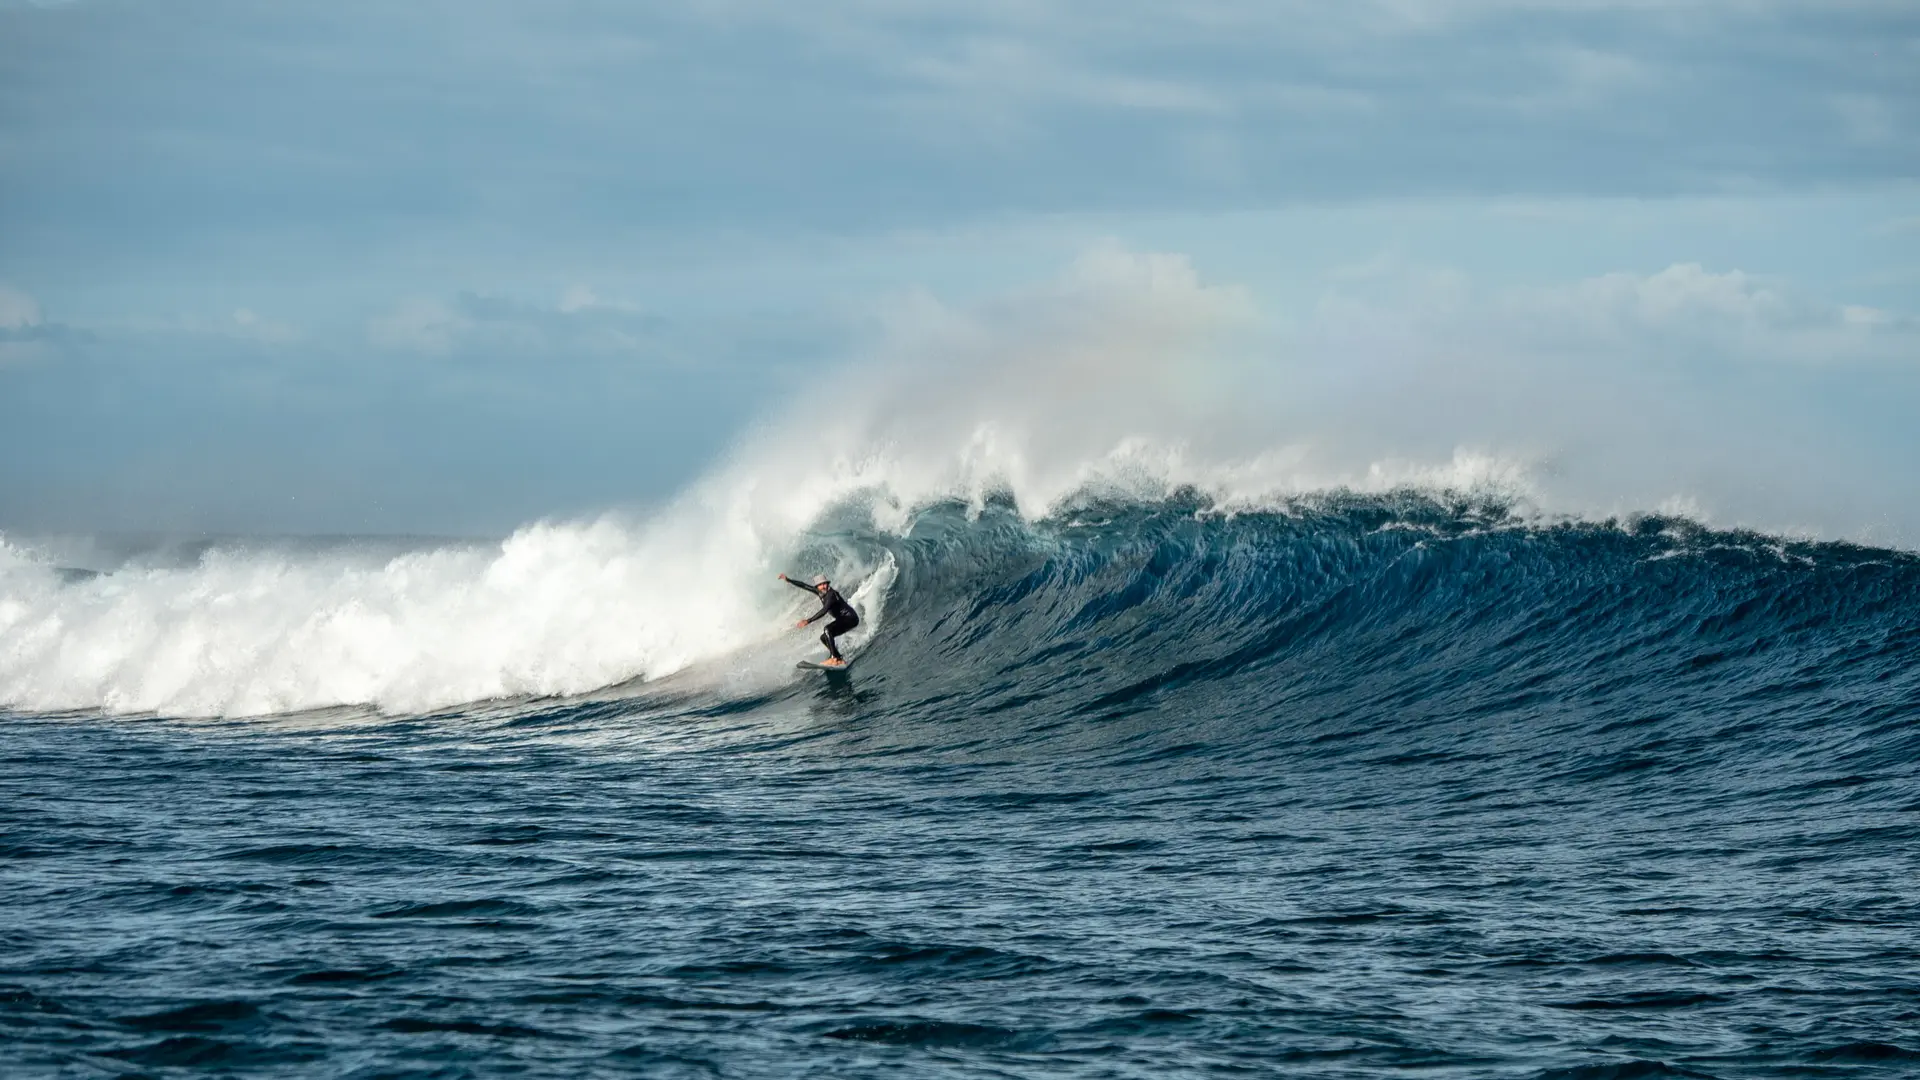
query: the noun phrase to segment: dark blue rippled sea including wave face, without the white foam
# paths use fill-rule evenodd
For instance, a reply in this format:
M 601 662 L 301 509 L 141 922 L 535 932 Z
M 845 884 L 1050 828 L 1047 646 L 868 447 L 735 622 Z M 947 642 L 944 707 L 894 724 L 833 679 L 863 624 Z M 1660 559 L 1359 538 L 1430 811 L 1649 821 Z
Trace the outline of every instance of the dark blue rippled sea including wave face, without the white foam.
M 1920 1076 L 1920 559 L 1196 509 L 820 532 L 849 676 L 0 715 L 4 1072 Z

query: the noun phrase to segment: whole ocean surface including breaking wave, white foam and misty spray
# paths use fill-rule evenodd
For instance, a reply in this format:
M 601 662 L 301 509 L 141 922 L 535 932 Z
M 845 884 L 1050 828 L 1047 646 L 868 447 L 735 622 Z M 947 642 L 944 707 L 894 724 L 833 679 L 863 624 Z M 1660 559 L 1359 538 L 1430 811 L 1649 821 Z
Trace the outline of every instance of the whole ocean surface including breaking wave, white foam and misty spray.
M 1254 323 L 1100 252 L 657 507 L 6 536 L 0 1065 L 1914 1074 L 1920 555 Z

